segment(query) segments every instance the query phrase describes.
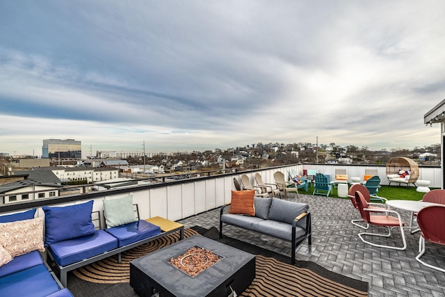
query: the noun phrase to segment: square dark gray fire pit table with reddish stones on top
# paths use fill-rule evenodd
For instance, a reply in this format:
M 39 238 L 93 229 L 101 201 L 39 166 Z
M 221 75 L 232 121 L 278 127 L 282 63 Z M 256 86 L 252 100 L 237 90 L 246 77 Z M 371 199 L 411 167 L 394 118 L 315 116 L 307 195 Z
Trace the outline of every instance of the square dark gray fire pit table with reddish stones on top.
M 189 250 L 193 249 L 191 252 Z M 198 255 L 196 250 L 204 250 Z M 192 253 L 192 254 L 191 254 Z M 196 266 L 208 266 L 198 273 Z M 209 259 L 216 261 L 209 262 Z M 183 269 L 177 268 L 174 264 Z M 130 262 L 130 285 L 139 296 L 229 296 L 241 294 L 255 278 L 255 256 L 194 235 Z

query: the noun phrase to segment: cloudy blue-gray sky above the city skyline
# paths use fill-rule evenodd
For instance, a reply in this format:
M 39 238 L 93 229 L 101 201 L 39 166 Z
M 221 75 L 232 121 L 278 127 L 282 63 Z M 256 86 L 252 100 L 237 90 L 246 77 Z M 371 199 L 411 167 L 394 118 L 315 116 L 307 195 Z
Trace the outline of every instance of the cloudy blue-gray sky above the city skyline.
M 0 152 L 440 143 L 445 1 L 0 1 Z

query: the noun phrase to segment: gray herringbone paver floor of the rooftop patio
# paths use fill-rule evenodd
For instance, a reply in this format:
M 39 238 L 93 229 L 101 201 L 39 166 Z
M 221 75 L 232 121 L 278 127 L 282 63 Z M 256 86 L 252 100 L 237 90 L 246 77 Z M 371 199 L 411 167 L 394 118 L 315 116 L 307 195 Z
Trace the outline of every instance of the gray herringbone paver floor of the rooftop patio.
M 288 200 L 309 204 L 312 214 L 312 248 L 304 243 L 298 250 L 296 259 L 312 261 L 330 271 L 369 283 L 369 296 L 445 296 L 445 273 L 435 271 L 416 262 L 420 232 L 411 234 L 405 230 L 406 250 L 377 248 L 362 243 L 357 234 L 363 229 L 350 223 L 359 218 L 358 211 L 348 199 L 325 196 L 290 194 Z M 410 213 L 399 211 L 405 223 Z M 219 209 L 179 220 L 185 227 L 199 225 L 219 229 Z M 371 227 L 373 232 L 377 227 Z M 380 232 L 385 232 L 380 228 Z M 291 245 L 287 241 L 275 239 L 256 232 L 227 225 L 224 234 L 232 238 L 280 252 L 290 257 Z M 394 230 L 395 242 L 401 245 L 401 236 Z M 374 238 L 373 238 L 374 239 Z M 371 239 L 370 239 L 371 240 Z M 428 255 L 439 255 L 439 266 L 445 267 L 445 247 L 427 243 Z M 423 259 L 423 258 L 422 258 Z

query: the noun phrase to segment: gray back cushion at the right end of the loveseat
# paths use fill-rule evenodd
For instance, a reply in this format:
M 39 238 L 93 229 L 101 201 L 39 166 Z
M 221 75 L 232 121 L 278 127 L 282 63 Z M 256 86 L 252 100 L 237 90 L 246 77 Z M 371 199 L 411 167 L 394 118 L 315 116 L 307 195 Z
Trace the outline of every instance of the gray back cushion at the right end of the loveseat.
M 279 222 L 293 223 L 293 220 L 303 212 L 307 212 L 309 205 L 306 203 L 293 202 L 272 198 L 272 205 L 270 205 L 269 220 L 277 220 Z M 306 219 L 298 222 L 298 227 L 306 227 Z

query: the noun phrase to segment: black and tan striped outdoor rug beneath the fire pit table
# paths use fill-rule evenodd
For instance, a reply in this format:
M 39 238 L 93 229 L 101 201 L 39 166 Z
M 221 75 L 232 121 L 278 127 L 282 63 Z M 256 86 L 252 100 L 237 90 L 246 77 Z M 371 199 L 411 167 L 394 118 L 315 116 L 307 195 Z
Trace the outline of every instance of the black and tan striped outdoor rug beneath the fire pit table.
M 184 237 L 195 234 L 199 233 L 192 229 L 184 230 Z M 117 256 L 113 256 L 73 272 L 78 278 L 88 282 L 106 284 L 129 282 L 130 261 L 177 241 L 179 234 L 170 234 L 123 252 L 121 263 L 118 263 Z M 256 276 L 240 296 L 368 296 L 367 291 L 348 287 L 309 268 L 286 264 L 273 257 L 257 255 L 256 264 Z

